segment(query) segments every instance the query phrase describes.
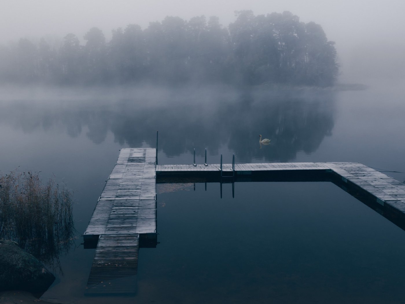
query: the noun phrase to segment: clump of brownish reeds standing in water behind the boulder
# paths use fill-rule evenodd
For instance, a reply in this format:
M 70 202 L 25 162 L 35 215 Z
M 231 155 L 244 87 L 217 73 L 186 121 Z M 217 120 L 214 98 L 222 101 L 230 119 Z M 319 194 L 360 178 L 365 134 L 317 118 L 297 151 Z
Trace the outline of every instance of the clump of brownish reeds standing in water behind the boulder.
M 52 179 L 43 183 L 38 173 L 0 175 L 0 239 L 16 241 L 50 268 L 60 269 L 59 255 L 75 239 L 72 196 Z

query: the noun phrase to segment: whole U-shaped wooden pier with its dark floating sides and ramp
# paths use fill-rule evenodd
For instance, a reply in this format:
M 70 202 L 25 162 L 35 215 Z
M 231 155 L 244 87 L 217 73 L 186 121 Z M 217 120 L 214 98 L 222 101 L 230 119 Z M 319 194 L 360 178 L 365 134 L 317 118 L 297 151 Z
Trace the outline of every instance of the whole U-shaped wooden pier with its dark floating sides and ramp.
M 83 235 L 96 248 L 87 294 L 133 293 L 139 247 L 155 247 L 156 183 L 328 181 L 405 230 L 405 184 L 361 163 L 156 165 L 156 149 L 122 149 Z M 132 278 L 129 285 L 122 278 Z

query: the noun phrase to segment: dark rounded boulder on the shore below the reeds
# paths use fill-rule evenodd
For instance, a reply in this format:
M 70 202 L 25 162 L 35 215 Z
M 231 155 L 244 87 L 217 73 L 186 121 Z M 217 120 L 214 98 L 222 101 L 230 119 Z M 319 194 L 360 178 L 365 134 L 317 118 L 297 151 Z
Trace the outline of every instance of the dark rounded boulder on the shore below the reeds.
M 39 298 L 54 280 L 55 276 L 16 242 L 0 240 L 0 291 L 29 291 Z

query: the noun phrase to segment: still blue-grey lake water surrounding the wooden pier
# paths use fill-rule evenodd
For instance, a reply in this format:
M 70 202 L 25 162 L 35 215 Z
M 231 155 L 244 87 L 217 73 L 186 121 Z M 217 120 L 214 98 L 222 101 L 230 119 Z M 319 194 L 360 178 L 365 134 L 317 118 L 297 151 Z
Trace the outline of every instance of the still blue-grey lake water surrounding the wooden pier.
M 350 161 L 405 172 L 403 87 L 365 91 L 1 89 L 0 170 L 55 176 L 75 192 L 76 246 L 43 299 L 67 303 L 403 303 L 405 231 L 322 183 L 158 185 L 157 248 L 138 293 L 85 298 L 85 231 L 119 150 L 159 163 Z M 260 148 L 258 135 L 271 139 Z M 405 173 L 388 173 L 404 180 Z

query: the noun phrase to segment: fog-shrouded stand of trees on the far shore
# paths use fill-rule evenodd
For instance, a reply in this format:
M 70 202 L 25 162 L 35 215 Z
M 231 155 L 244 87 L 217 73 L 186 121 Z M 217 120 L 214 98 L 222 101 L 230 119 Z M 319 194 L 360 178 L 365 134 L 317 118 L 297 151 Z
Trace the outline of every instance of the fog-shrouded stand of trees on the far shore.
M 83 43 L 72 33 L 56 46 L 21 38 L 0 45 L 0 81 L 333 86 L 337 53 L 319 24 L 288 11 L 235 14 L 228 27 L 214 16 L 167 16 L 145 29 L 129 24 L 113 30 L 109 41 L 96 27 Z

